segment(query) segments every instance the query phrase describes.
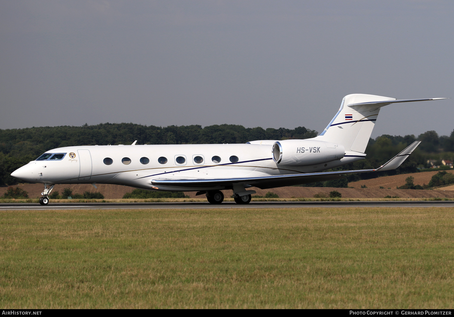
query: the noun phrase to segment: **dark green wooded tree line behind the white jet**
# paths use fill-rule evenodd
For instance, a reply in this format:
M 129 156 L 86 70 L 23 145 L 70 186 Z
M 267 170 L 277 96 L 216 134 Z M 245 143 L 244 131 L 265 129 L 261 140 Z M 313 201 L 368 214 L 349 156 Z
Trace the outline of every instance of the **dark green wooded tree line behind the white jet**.
M 80 127 L 32 127 L 25 129 L 0 129 L 0 185 L 14 185 L 18 180 L 10 173 L 16 168 L 36 159 L 49 149 L 76 145 L 132 144 L 223 144 L 246 143 L 252 140 L 308 139 L 317 135 L 305 127 L 295 129 L 245 128 L 242 125 L 221 124 L 203 127 L 187 125 L 168 127 L 147 126 L 132 123 L 84 124 Z M 376 168 L 393 157 L 415 139 L 423 142 L 397 171 L 381 174 L 412 173 L 426 168 L 427 159 L 450 159 L 454 151 L 454 131 L 448 136 L 439 136 L 427 131 L 418 138 L 414 135 L 382 135 L 370 139 L 366 149 L 367 158 L 350 163 L 341 169 Z M 350 175 L 349 181 L 376 177 L 374 175 Z

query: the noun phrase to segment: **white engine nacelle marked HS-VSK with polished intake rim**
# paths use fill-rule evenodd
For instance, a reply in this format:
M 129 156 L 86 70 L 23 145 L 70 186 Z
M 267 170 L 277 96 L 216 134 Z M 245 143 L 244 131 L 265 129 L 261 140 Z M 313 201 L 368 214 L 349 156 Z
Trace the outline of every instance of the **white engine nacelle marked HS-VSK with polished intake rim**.
M 281 165 L 307 166 L 342 159 L 341 144 L 316 140 L 283 140 L 273 144 L 273 160 Z

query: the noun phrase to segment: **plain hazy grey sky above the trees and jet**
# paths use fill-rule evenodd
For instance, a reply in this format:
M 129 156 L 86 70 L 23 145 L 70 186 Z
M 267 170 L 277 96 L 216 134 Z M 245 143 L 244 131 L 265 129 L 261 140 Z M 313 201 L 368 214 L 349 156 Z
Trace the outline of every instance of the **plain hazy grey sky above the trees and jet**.
M 0 1 L 0 129 L 133 122 L 321 132 L 346 94 L 454 97 L 454 1 Z M 389 105 L 373 137 L 454 129 Z

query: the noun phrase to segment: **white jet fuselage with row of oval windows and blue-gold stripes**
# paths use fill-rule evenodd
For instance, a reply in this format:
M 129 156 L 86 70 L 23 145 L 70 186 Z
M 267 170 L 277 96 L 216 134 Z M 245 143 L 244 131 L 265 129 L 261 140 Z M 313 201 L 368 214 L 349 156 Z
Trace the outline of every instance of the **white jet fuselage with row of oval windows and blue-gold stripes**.
M 31 183 L 108 183 L 156 190 L 151 184 L 154 178 L 241 178 L 314 173 L 362 159 L 344 157 L 309 166 L 282 166 L 272 159 L 271 151 L 272 145 L 260 144 L 73 146 L 51 149 L 46 153 L 64 154 L 64 157 L 52 159 L 50 156 L 31 161 L 16 170 L 13 176 Z M 306 154 L 313 152 L 315 155 L 320 151 L 323 149 Z M 178 189 L 182 190 L 159 188 Z

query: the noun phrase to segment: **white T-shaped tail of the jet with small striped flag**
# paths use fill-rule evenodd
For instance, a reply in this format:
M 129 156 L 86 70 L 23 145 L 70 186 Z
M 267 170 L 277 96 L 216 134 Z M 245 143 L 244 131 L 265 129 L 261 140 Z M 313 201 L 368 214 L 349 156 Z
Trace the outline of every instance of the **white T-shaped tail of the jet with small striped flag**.
M 396 100 L 373 94 L 349 94 L 342 99 L 341 108 L 330 124 L 315 139 L 342 144 L 347 151 L 364 153 L 380 107 L 387 104 L 436 99 L 446 98 Z

